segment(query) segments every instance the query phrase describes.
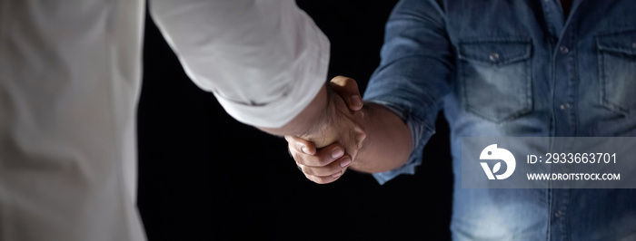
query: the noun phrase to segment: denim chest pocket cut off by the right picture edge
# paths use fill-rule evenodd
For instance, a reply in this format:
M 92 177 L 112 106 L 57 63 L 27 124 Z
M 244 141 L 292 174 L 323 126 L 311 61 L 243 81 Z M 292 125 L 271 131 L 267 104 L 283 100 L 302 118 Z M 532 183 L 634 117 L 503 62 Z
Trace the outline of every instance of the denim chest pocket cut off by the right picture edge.
M 636 109 L 636 29 L 596 36 L 601 104 L 625 116 Z

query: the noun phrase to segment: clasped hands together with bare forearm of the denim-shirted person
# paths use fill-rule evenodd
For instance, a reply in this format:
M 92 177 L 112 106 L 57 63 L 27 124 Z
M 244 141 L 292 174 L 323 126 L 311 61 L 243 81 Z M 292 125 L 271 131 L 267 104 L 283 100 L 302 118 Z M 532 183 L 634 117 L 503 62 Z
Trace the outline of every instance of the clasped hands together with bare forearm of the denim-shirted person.
M 306 178 L 331 183 L 346 169 L 383 172 L 408 159 L 412 145 L 406 124 L 382 105 L 363 105 L 360 96 L 353 79 L 337 76 L 299 115 L 301 121 L 293 120 L 302 128 L 284 137 Z

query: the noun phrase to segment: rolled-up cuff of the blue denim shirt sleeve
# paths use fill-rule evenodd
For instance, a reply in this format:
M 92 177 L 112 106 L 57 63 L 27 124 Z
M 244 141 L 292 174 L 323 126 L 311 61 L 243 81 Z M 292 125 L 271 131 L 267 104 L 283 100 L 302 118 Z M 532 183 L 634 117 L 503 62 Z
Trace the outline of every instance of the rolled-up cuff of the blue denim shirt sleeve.
M 428 140 L 431 139 L 432 135 L 435 133 L 435 130 L 430 125 L 426 124 L 423 120 L 417 120 L 417 118 L 408 114 L 409 110 L 404 107 L 381 100 L 370 100 L 369 102 L 383 105 L 387 109 L 397 114 L 404 121 L 404 123 L 406 123 L 406 125 L 409 127 L 409 130 L 411 130 L 413 148 L 409 159 L 406 161 L 406 164 L 397 169 L 373 173 L 373 178 L 375 178 L 375 180 L 378 181 L 380 185 L 383 185 L 387 181 L 390 181 L 400 174 L 415 174 L 415 168 L 422 164 L 422 151 L 424 149 L 424 145 L 426 145 Z

